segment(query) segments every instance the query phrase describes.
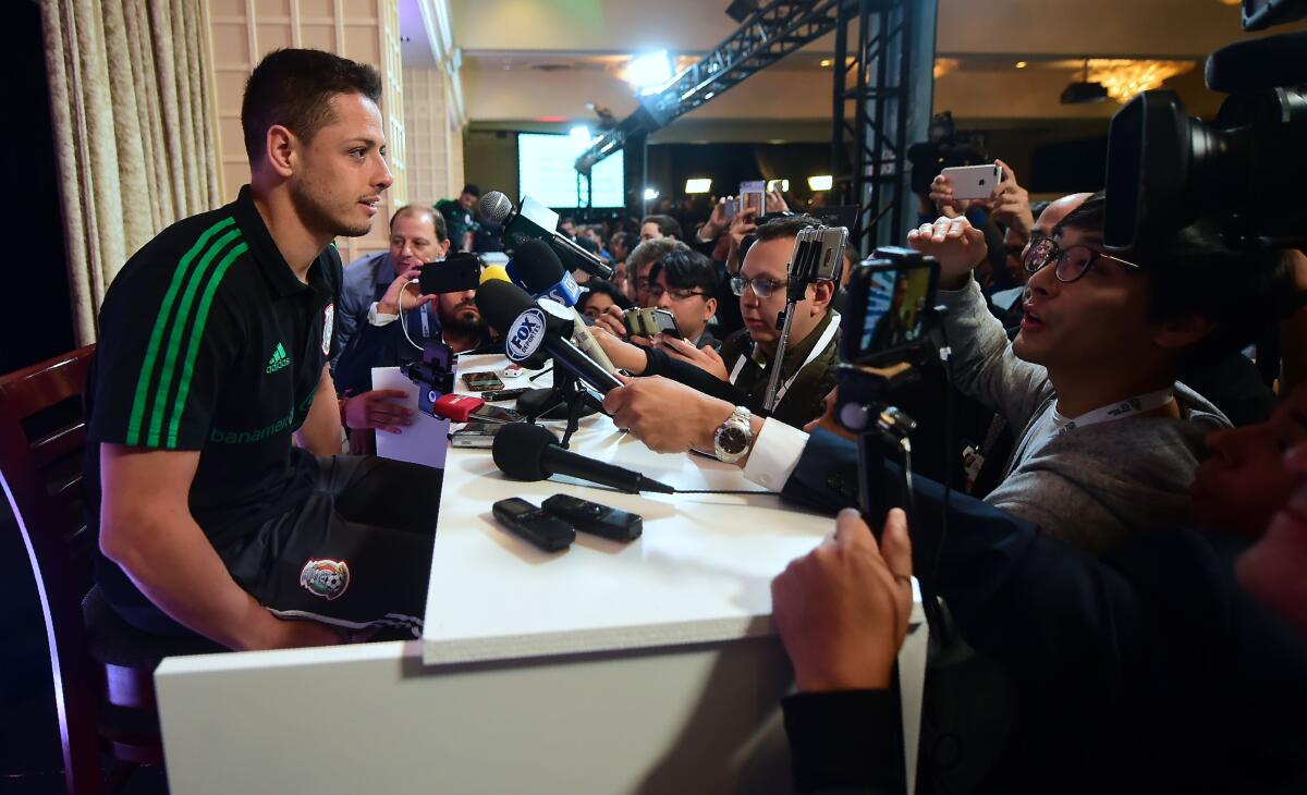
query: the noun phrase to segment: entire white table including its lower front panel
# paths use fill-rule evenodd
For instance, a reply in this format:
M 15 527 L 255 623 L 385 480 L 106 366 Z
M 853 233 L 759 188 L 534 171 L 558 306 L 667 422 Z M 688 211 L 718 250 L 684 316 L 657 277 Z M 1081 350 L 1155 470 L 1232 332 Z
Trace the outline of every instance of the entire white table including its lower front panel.
M 680 488 L 755 488 L 603 416 L 572 448 Z M 491 519 L 495 499 L 559 492 L 642 514 L 643 536 L 548 554 Z M 451 450 L 422 639 L 165 660 L 171 790 L 788 791 L 770 581 L 831 528 L 771 496 L 523 484 Z

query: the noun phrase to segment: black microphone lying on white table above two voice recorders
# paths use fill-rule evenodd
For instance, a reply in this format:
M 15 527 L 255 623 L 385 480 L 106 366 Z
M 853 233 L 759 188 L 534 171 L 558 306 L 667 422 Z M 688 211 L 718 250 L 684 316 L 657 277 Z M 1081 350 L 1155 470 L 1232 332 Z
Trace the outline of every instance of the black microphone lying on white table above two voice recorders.
M 627 494 L 676 493 L 672 486 L 644 477 L 639 472 L 563 450 L 554 434 L 538 425 L 525 422 L 505 425 L 494 437 L 491 455 L 499 471 L 515 480 L 535 481 L 550 475 L 567 475 L 612 486 Z

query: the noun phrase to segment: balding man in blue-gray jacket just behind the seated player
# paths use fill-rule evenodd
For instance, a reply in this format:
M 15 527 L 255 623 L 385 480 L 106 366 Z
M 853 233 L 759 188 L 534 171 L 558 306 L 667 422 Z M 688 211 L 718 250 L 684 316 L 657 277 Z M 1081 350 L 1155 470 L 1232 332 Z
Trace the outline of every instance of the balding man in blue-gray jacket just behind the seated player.
M 336 310 L 339 350 L 345 350 L 358 327 L 367 322 L 367 310 L 386 296 L 396 279 L 416 272 L 423 263 L 443 259 L 450 251 L 450 235 L 440 213 L 422 204 L 409 204 L 391 217 L 391 247 L 356 259 L 345 268 Z M 340 352 L 331 360 L 332 373 Z

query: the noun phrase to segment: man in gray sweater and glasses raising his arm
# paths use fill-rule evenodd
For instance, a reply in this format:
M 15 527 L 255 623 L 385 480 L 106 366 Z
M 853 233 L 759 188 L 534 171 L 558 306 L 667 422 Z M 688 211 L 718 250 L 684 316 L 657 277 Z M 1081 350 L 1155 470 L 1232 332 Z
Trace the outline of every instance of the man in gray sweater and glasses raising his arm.
M 1202 438 L 1229 421 L 1176 373 L 1185 357 L 1251 333 L 1269 284 L 1257 263 L 1199 228 L 1110 255 L 1103 208 L 1091 196 L 1031 241 L 1025 320 L 1010 344 L 971 277 L 985 256 L 982 233 L 959 217 L 908 235 L 940 260 L 957 387 L 1017 431 L 985 502 L 1090 552 L 1188 522 Z

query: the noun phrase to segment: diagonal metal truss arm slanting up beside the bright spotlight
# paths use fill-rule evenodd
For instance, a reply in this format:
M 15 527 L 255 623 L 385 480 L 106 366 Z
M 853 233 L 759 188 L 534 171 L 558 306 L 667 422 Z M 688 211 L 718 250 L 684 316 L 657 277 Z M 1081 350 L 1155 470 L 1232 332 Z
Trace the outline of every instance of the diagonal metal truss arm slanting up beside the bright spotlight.
M 791 52 L 835 29 L 840 5 L 850 0 L 771 0 L 755 10 L 725 41 L 655 94 L 616 128 L 591 143 L 576 170 L 589 174 L 595 163 L 626 145 L 634 136 L 647 136 L 677 116 L 766 69 Z

